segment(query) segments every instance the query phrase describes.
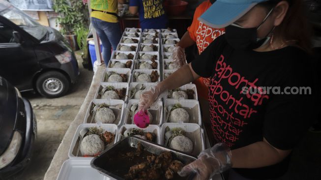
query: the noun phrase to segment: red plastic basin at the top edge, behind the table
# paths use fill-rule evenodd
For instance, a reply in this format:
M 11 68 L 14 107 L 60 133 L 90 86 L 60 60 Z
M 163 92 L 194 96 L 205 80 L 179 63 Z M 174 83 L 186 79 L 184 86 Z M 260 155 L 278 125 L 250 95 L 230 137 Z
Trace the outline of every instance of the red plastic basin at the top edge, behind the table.
M 178 16 L 184 13 L 188 2 L 184 0 L 165 0 L 165 9 L 170 16 Z

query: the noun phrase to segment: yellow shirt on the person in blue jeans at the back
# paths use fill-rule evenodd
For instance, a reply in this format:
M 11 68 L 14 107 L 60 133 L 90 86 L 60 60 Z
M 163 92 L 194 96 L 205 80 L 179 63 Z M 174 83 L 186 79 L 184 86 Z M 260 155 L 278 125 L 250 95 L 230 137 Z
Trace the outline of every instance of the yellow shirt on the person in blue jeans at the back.
M 118 2 L 117 0 L 90 0 L 90 8 L 117 14 Z M 118 22 L 118 18 L 116 16 L 99 11 L 92 11 L 90 16 L 110 23 Z

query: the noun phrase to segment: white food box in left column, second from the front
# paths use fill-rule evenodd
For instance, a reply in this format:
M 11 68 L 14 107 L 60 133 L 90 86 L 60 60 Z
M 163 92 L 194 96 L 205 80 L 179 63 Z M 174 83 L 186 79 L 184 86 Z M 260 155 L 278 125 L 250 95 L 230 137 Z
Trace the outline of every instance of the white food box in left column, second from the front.
M 113 110 L 114 114 L 115 114 L 115 118 L 116 120 L 114 121 L 113 124 L 116 124 L 117 126 L 121 125 L 122 122 L 122 116 L 124 114 L 124 109 L 125 109 L 125 103 L 123 100 L 104 100 L 104 99 L 93 99 L 90 104 L 89 107 L 87 109 L 87 113 L 85 116 L 85 120 L 84 123 L 96 123 L 94 121 L 94 119 L 92 119 L 91 122 L 91 113 L 90 110 L 94 105 L 99 105 L 99 104 L 107 104 L 108 106 L 113 106 L 113 108 L 110 108 Z M 102 123 L 104 124 L 104 123 Z

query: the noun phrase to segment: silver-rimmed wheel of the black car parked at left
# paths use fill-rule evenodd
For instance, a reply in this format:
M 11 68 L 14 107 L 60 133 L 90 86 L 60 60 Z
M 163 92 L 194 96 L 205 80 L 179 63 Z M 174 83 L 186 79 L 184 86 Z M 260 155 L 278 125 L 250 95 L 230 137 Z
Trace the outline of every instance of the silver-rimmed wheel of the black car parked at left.
M 68 91 L 69 81 L 58 71 L 48 71 L 38 77 L 36 88 L 47 98 L 61 97 Z

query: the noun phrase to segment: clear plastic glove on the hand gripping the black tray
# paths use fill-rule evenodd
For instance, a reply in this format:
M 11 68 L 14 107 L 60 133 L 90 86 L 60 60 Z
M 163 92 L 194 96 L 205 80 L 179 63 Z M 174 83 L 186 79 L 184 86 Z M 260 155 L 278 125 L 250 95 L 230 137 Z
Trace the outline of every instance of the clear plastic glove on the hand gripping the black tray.
M 184 166 L 178 175 L 185 177 L 196 173 L 193 180 L 209 180 L 212 176 L 232 167 L 231 157 L 230 148 L 226 144 L 218 143 L 212 148 L 203 150 L 198 159 Z

